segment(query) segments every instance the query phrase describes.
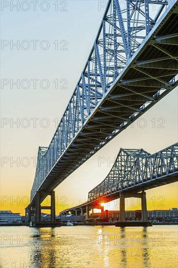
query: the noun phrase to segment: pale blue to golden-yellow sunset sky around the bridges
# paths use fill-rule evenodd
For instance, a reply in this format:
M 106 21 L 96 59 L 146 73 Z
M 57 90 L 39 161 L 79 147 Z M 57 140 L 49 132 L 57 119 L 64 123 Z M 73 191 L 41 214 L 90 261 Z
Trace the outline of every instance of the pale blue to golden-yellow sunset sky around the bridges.
M 65 1 L 64 1 L 65 2 Z M 51 5 L 44 12 L 36 7 L 28 12 L 4 8 L 1 16 L 1 176 L 0 210 L 24 214 L 35 178 L 39 146 L 48 146 L 71 94 L 83 70 L 105 8 L 98 1 L 67 1 L 66 11 L 54 11 Z M 61 7 L 60 7 L 61 8 Z M 89 19 L 88 15 L 90 14 Z M 24 23 L 22 24 L 22 21 Z M 28 50 L 21 48 L 30 43 Z M 34 50 L 34 41 L 36 50 Z M 43 50 L 45 42 L 49 49 Z M 19 50 L 13 44 L 19 42 Z M 58 49 L 56 50 L 56 44 Z M 64 47 L 66 50 L 61 50 Z M 30 81 L 25 89 L 13 84 L 19 79 Z M 36 80 L 36 89 L 34 87 Z M 49 88 L 40 86 L 46 79 Z M 55 89 L 58 79 L 59 88 Z M 60 82 L 61 81 L 61 82 Z M 66 89 L 61 89 L 63 84 Z M 144 118 L 144 119 L 143 119 Z M 140 120 L 140 119 L 139 119 Z M 174 89 L 142 116 L 142 121 L 110 141 L 86 163 L 73 172 L 56 189 L 56 213 L 84 202 L 88 192 L 110 171 L 120 148 L 143 148 L 155 153 L 178 141 L 178 91 Z M 17 123 L 15 123 L 17 122 Z M 155 126 L 153 125 L 155 122 Z M 139 125 L 140 123 L 140 125 Z M 160 125 L 161 124 L 161 125 Z M 106 159 L 105 163 L 100 162 Z M 178 207 L 178 183 L 151 189 L 147 193 L 148 210 Z M 126 209 L 141 207 L 128 199 Z M 117 202 L 105 209 L 118 210 Z

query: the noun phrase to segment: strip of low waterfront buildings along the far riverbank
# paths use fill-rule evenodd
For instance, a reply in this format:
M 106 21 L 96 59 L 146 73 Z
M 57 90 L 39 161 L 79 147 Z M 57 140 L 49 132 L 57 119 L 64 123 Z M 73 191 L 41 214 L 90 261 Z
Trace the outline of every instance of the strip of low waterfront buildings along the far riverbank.
M 84 213 L 85 214 L 85 213 Z M 169 210 L 154 210 L 147 211 L 148 220 L 153 223 L 178 223 L 178 208 Z M 34 216 L 35 217 L 35 216 Z M 43 221 L 50 221 L 50 214 L 41 213 Z M 55 216 L 56 221 L 61 222 L 85 222 L 85 215 L 60 214 Z M 89 215 L 89 222 L 108 222 L 115 223 L 120 219 L 120 211 L 102 211 L 92 212 Z M 140 221 L 142 220 L 142 211 L 125 211 L 126 221 Z M 13 213 L 12 211 L 0 211 L 0 224 L 28 224 L 28 216 L 20 216 L 20 213 Z

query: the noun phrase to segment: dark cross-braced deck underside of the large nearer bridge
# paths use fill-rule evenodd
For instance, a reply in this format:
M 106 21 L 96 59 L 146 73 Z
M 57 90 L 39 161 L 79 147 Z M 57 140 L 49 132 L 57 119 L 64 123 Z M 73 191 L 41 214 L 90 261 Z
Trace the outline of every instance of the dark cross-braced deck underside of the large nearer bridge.
M 178 73 L 178 37 L 173 36 L 177 32 L 178 14 L 177 11 L 171 10 L 159 27 L 152 31 L 151 37 L 145 41 L 139 52 L 132 57 L 132 61 L 123 70 L 100 106 L 60 157 L 38 190 L 52 191 L 98 151 L 98 148 L 102 148 L 116 134 L 123 131 L 176 87 L 176 84 L 171 85 L 169 82 Z M 158 38 L 162 36 L 167 37 Z M 159 96 L 157 92 L 161 89 L 165 91 Z M 141 109 L 145 103 L 148 103 L 147 107 Z M 130 118 L 133 113 L 137 114 Z M 122 128 L 119 127 L 125 121 L 127 123 Z M 117 130 L 117 133 L 113 134 L 114 130 Z M 172 179 L 174 181 L 174 178 Z M 160 181 L 161 185 L 163 180 Z M 152 182 L 150 182 L 150 187 L 151 185 Z M 141 186 L 139 187 L 141 189 Z M 144 185 L 142 185 L 142 190 L 145 190 Z M 35 199 L 36 196 L 32 203 Z

